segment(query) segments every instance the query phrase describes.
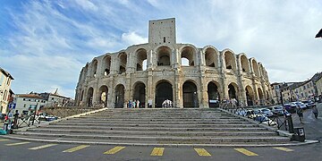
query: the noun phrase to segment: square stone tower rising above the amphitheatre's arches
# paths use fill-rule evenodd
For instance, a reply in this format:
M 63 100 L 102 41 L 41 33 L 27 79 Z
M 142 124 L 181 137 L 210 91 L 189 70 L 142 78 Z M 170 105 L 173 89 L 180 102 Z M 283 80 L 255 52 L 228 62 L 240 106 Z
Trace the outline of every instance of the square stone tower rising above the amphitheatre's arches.
M 175 19 L 149 21 L 148 44 L 176 44 Z

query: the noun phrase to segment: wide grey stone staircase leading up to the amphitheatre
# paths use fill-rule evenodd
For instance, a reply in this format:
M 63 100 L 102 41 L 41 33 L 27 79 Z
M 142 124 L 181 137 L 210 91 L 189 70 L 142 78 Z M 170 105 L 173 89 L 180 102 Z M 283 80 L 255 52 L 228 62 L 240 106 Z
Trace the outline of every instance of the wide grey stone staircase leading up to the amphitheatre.
M 280 146 L 274 131 L 219 109 L 107 109 L 13 134 L 26 140 L 137 146 Z

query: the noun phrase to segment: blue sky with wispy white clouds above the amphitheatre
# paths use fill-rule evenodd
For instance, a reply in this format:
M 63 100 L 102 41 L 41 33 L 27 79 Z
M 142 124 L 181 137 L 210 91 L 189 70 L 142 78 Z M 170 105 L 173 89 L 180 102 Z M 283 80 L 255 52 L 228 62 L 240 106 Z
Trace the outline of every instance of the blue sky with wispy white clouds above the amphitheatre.
M 0 67 L 15 94 L 74 97 L 98 55 L 148 43 L 148 21 L 175 18 L 177 43 L 255 57 L 271 83 L 322 72 L 321 0 L 0 0 Z

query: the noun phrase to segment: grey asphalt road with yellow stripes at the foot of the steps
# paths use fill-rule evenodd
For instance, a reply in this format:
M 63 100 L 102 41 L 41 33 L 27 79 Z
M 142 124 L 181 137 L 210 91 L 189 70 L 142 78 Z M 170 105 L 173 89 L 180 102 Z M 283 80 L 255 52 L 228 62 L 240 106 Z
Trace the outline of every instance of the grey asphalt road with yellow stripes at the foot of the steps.
M 292 114 L 295 126 L 304 127 L 306 138 L 322 140 L 322 104 L 319 117 L 305 110 L 304 123 Z M 18 144 L 15 144 L 18 143 Z M 56 144 L 6 140 L 0 137 L 0 161 L 10 160 L 322 160 L 322 143 L 284 148 L 158 148 Z M 30 149 L 31 148 L 31 149 Z

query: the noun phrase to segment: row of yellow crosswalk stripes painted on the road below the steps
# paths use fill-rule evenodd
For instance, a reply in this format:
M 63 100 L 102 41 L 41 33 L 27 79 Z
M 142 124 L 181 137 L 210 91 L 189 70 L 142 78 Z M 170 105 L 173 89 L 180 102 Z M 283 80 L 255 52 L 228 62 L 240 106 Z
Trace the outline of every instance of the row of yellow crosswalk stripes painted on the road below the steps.
M 12 147 L 12 146 L 22 146 L 22 145 L 28 145 L 30 144 L 30 142 L 28 141 L 21 141 L 21 142 L 13 142 L 10 143 L 11 140 L 7 140 L 7 139 L 0 139 L 0 142 L 5 142 L 6 144 L 4 144 L 5 146 L 8 147 Z M 31 147 L 28 148 L 30 150 L 40 150 L 43 148 L 52 148 L 55 146 L 59 146 L 58 144 L 45 144 L 45 145 L 40 145 L 37 147 Z M 72 148 L 67 148 L 65 149 L 64 153 L 73 153 L 73 152 L 77 152 L 79 150 L 85 150 L 84 148 L 89 148 L 90 145 L 78 145 Z M 121 152 L 122 150 L 124 150 L 126 147 L 121 147 L 121 146 L 115 146 L 114 148 L 110 148 L 108 150 L 106 150 L 106 152 L 104 152 L 103 154 L 105 155 L 114 155 L 116 153 Z M 208 152 L 208 150 L 206 148 L 193 148 L 196 155 L 198 155 L 199 157 L 211 157 L 212 155 L 216 155 L 216 152 L 214 152 L 213 154 L 211 154 L 210 152 Z M 292 152 L 294 151 L 294 149 L 291 148 L 284 148 L 284 147 L 273 147 L 273 149 L 276 150 L 280 150 L 283 152 Z M 234 151 L 237 151 L 239 153 L 241 153 L 244 156 L 247 157 L 257 157 L 259 156 L 258 153 L 251 151 L 250 149 L 246 149 L 246 148 L 233 148 Z M 164 156 L 166 152 L 166 148 L 160 148 L 160 147 L 156 147 L 156 148 L 152 148 L 152 151 L 150 153 L 151 157 L 162 157 Z

